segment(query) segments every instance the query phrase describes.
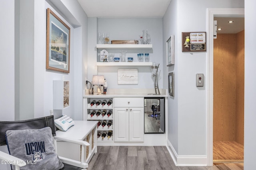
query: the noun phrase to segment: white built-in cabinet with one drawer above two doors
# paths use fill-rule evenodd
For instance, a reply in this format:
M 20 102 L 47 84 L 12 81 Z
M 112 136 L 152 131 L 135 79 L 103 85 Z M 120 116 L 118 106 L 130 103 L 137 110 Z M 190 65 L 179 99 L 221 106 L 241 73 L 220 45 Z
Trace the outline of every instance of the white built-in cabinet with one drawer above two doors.
M 144 141 L 144 98 L 114 98 L 114 141 Z

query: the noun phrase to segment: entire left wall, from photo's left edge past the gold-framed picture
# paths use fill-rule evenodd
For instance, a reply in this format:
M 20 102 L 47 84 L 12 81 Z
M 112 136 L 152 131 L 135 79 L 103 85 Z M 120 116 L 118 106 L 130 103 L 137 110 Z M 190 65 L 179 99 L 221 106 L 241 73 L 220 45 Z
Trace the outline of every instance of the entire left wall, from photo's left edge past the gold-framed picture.
M 1 83 L 0 120 L 50 115 L 53 80 L 63 78 L 70 80 L 70 107 L 63 114 L 81 120 L 83 77 L 87 76 L 82 61 L 87 59 L 88 32 L 87 15 L 80 4 L 68 0 L 11 0 L 1 4 L 5 16 L 1 23 L 8 27 L 1 27 L 1 78 L 5 83 Z M 71 28 L 69 74 L 46 70 L 46 8 Z

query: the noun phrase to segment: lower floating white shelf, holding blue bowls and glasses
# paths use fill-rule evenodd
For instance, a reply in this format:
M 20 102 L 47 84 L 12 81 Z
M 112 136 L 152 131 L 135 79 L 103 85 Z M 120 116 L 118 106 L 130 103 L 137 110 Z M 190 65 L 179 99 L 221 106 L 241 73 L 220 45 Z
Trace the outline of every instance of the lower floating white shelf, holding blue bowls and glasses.
M 97 62 L 96 66 L 151 66 L 152 62 Z

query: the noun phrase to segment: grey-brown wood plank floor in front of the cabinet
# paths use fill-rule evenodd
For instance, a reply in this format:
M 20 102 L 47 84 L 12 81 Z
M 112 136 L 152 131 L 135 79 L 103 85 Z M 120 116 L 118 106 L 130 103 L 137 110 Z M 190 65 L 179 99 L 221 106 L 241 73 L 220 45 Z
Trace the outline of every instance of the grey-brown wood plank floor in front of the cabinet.
M 243 164 L 175 166 L 165 146 L 98 146 L 87 170 L 243 170 Z

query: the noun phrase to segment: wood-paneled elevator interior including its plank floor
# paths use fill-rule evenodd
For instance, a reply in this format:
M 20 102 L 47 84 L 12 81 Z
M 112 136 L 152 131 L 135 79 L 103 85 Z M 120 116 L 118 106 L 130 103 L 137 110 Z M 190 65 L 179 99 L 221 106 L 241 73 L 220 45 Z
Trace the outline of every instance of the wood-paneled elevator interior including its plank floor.
M 244 30 L 214 39 L 213 162 L 244 160 Z

